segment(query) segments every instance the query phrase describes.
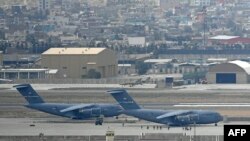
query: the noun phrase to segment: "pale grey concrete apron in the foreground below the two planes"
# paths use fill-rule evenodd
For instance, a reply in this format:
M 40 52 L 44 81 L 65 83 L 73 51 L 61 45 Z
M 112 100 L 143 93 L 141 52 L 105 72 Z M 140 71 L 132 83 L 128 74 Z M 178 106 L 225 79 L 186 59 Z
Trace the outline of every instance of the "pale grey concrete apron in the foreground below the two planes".
M 54 122 L 52 122 L 53 120 Z M 0 136 L 91 136 L 105 135 L 107 130 L 115 131 L 115 135 L 142 135 L 147 133 L 185 134 L 193 135 L 194 127 L 185 131 L 181 127 L 168 129 L 164 125 L 144 121 L 136 123 L 104 123 L 96 126 L 94 123 L 56 122 L 57 119 L 48 118 L 0 118 Z M 230 123 L 231 124 L 231 123 Z M 241 123 L 249 124 L 249 123 Z M 32 125 L 32 126 L 31 126 Z M 160 128 L 161 127 L 161 128 Z M 196 135 L 223 135 L 223 123 L 218 126 L 196 126 Z

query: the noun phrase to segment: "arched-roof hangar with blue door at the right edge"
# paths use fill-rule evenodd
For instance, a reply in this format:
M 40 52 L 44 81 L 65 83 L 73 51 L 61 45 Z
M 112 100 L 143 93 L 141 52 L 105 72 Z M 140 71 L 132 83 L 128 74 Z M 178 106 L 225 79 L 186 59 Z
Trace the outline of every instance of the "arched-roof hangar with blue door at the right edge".
M 247 84 L 249 75 L 250 64 L 236 60 L 209 67 L 207 81 L 212 84 Z

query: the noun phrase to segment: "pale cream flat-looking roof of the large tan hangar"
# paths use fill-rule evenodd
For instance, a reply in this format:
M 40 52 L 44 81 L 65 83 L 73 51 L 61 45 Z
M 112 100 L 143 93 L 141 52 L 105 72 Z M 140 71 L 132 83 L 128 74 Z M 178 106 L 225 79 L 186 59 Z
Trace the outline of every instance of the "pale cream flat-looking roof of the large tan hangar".
M 67 54 L 67 55 L 95 55 L 99 54 L 106 48 L 50 48 L 47 51 L 43 52 L 42 54 L 51 54 L 51 55 L 59 55 L 59 54 Z

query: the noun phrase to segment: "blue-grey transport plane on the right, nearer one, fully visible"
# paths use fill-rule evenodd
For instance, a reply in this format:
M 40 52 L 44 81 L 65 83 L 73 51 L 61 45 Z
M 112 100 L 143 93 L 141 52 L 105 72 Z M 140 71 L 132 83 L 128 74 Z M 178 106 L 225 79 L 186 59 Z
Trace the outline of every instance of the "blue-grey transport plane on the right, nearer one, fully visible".
M 169 128 L 171 126 L 187 127 L 194 124 L 212 123 L 217 126 L 217 123 L 223 120 L 223 117 L 214 111 L 141 109 L 124 89 L 111 90 L 108 93 L 124 108 L 123 114 L 165 124 Z

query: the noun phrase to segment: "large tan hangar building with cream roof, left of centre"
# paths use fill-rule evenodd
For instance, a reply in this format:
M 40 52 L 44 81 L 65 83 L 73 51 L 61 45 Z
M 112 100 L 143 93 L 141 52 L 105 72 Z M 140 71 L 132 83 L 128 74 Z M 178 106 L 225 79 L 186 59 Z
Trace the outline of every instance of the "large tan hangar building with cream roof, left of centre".
M 50 48 L 41 66 L 57 69 L 59 78 L 107 78 L 117 75 L 117 55 L 107 48 Z

